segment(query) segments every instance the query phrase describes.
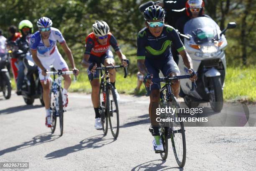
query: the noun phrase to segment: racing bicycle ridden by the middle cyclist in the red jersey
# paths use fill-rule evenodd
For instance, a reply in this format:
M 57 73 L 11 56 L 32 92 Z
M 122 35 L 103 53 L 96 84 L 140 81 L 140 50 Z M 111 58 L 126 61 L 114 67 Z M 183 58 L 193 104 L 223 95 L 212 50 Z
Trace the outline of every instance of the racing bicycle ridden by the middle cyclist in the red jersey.
M 96 70 L 100 70 L 100 117 L 102 123 L 102 130 L 105 135 L 108 133 L 108 120 L 110 125 L 110 130 L 114 138 L 118 137 L 119 133 L 119 110 L 118 102 L 115 95 L 115 89 L 112 84 L 110 84 L 110 73 L 109 69 L 124 68 L 124 78 L 127 77 L 127 67 L 122 65 L 118 66 L 106 66 L 98 67 Z M 102 70 L 105 73 L 102 73 Z

